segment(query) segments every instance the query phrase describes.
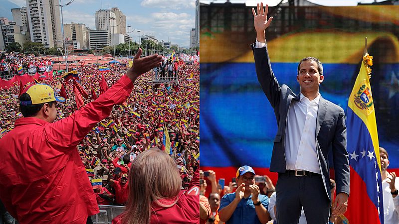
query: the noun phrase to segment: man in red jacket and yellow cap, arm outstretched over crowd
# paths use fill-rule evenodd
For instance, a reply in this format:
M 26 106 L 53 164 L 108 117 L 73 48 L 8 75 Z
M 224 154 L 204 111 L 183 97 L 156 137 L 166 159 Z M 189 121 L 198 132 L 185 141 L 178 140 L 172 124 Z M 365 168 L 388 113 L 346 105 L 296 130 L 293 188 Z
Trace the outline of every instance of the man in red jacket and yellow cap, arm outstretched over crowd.
M 56 98 L 50 86 L 32 85 L 20 96 L 23 118 L 0 139 L 0 200 L 20 224 L 91 223 L 99 212 L 80 160 L 78 143 L 130 96 L 133 83 L 159 66 L 161 56 L 140 58 L 97 100 L 54 122 Z

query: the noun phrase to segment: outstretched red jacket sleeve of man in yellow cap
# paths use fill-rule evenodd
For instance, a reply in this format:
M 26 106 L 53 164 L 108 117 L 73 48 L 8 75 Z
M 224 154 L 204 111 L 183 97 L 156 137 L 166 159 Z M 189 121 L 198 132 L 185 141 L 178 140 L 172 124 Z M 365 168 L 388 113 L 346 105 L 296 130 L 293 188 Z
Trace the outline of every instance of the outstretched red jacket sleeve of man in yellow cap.
M 71 116 L 45 126 L 47 142 L 54 148 L 76 147 L 86 134 L 111 113 L 112 107 L 121 104 L 130 96 L 132 81 L 126 76 L 97 100 L 87 104 Z

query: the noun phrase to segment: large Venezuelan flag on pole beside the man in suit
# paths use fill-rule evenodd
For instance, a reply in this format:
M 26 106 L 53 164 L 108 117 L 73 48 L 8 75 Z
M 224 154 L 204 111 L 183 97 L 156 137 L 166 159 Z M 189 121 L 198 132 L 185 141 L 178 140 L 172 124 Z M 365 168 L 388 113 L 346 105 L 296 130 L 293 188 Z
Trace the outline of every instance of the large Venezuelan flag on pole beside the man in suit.
M 346 125 L 351 196 L 345 216 L 350 223 L 384 223 L 380 150 L 368 67 L 373 65 L 372 59 L 369 54 L 363 57 L 348 101 Z

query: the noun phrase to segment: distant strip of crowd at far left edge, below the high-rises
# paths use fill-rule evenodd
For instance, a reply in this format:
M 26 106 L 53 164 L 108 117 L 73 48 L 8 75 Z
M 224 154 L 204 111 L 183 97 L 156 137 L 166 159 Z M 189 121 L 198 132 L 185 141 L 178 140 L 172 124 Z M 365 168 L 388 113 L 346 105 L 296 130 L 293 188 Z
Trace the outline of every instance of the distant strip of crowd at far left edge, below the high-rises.
M 0 55 L 4 53 L 4 57 L 0 62 L 0 78 L 8 78 L 11 75 L 23 74 L 36 71 L 48 70 L 51 66 L 51 59 L 46 57 L 35 57 L 33 54 L 23 53 L 5 53 L 0 51 Z M 47 66 L 47 68 L 46 68 Z

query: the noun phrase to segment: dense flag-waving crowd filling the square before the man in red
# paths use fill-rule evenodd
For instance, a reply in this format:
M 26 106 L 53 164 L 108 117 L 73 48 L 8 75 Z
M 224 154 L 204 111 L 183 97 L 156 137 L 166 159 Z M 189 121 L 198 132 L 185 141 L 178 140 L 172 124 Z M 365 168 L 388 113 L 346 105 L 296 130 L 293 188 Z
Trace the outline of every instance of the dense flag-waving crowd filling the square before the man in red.
M 47 61 L 6 54 L 2 63 L 16 67 L 26 63 L 45 65 Z M 172 61 L 168 63 L 172 64 Z M 189 187 L 199 168 L 199 64 L 175 64 L 178 82 L 153 84 L 159 68 L 141 75 L 127 101 L 115 106 L 111 114 L 79 142 L 76 150 L 99 205 L 126 205 L 132 162 L 149 148 L 167 151 L 179 169 L 182 189 Z M 106 88 L 110 88 L 129 70 L 125 64 L 105 66 L 105 72 L 99 71 L 97 65 L 81 66 L 77 68 L 78 75 L 72 79 L 65 79 L 64 73 L 42 81 L 53 87 L 56 95 L 66 95 L 65 103 L 57 104 L 57 120 L 82 107 L 76 103 L 78 97 L 74 86 L 82 87 L 83 93 L 87 94 L 83 96 L 84 104 L 88 104 L 103 93 L 102 80 L 105 80 Z M 1 90 L 0 138 L 14 128 L 16 119 L 22 117 L 18 108 L 20 89 L 16 83 Z

